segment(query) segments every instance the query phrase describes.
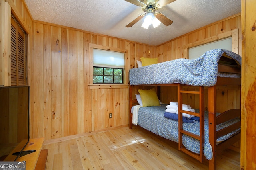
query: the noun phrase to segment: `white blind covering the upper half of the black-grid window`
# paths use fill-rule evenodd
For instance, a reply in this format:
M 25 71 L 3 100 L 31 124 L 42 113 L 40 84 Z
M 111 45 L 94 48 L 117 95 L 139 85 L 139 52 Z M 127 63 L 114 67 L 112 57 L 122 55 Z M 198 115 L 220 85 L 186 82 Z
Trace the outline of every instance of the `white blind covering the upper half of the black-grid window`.
M 93 49 L 93 66 L 124 68 L 124 53 Z

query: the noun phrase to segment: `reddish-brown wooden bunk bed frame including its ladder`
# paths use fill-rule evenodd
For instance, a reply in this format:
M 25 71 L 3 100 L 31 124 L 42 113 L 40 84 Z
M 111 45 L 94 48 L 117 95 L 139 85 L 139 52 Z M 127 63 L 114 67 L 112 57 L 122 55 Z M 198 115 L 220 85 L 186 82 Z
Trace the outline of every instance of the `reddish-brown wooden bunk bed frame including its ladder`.
M 232 66 L 226 66 L 226 65 L 218 65 L 218 71 L 219 72 L 226 72 L 226 73 L 235 73 L 235 74 L 241 74 L 240 68 L 232 67 Z M 217 145 L 216 140 L 221 137 L 224 134 L 230 133 L 234 131 L 235 129 L 238 129 L 241 127 L 240 121 L 237 123 L 234 123 L 233 125 L 230 125 L 224 129 L 221 129 L 219 131 L 216 131 L 216 125 L 226 122 L 230 119 L 234 119 L 236 117 L 240 118 L 241 110 L 240 109 L 231 109 L 228 111 L 225 111 L 218 115 L 216 117 L 216 86 L 224 86 L 224 85 L 241 85 L 241 78 L 224 78 L 224 77 L 218 77 L 217 83 L 214 86 L 208 87 L 208 116 L 209 116 L 209 143 L 212 146 L 212 152 L 213 157 L 211 160 L 207 160 L 203 154 L 204 149 L 204 86 L 199 87 L 199 91 L 187 91 L 182 90 L 182 86 L 188 86 L 180 83 L 174 83 L 174 84 L 153 84 L 153 85 L 139 85 L 139 86 L 178 86 L 178 105 L 179 105 L 179 113 L 187 113 L 190 115 L 195 115 L 200 117 L 200 135 L 195 135 L 193 133 L 190 133 L 188 131 L 183 130 L 183 121 L 182 121 L 182 114 L 179 114 L 179 143 L 178 143 L 178 149 L 185 152 L 186 154 L 192 156 L 193 158 L 202 161 L 208 161 L 209 162 L 209 170 L 216 170 L 217 163 L 216 163 L 216 155 L 219 154 L 221 151 L 225 150 L 230 145 L 234 144 L 235 142 L 240 140 L 240 131 L 239 133 L 236 133 L 226 141 L 223 141 Z M 136 99 L 132 99 L 133 93 L 134 93 L 134 86 L 130 85 L 129 87 L 129 107 L 130 110 L 134 104 L 137 104 Z M 193 113 L 190 111 L 181 110 L 182 108 L 182 94 L 183 93 L 190 93 L 190 94 L 199 94 L 199 113 Z M 232 112 L 232 114 L 230 114 Z M 129 128 L 132 129 L 132 113 L 129 112 Z M 200 154 L 196 154 L 194 152 L 189 151 L 186 149 L 182 143 L 182 135 L 188 135 L 190 137 L 194 137 L 195 139 L 198 139 L 200 141 Z

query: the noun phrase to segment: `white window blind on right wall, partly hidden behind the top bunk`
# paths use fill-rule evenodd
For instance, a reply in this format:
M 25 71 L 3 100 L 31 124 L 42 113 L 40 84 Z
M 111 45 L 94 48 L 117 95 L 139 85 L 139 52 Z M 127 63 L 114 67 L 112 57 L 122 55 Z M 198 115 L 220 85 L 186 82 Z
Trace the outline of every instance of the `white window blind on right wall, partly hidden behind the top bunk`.
M 212 49 L 226 49 L 226 50 L 232 51 L 232 37 L 189 48 L 188 58 L 197 59 L 198 57 L 203 55 L 206 51 L 209 51 Z

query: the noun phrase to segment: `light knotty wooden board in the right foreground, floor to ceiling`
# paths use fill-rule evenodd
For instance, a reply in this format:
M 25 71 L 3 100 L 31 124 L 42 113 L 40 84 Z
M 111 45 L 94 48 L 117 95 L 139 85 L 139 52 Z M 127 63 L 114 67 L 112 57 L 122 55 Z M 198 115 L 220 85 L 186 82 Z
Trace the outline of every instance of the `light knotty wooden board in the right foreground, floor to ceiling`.
M 242 0 L 241 170 L 256 169 L 256 3 Z

